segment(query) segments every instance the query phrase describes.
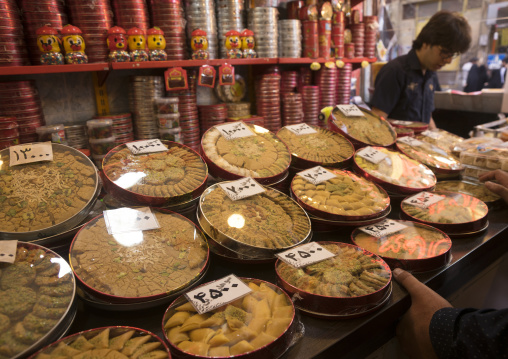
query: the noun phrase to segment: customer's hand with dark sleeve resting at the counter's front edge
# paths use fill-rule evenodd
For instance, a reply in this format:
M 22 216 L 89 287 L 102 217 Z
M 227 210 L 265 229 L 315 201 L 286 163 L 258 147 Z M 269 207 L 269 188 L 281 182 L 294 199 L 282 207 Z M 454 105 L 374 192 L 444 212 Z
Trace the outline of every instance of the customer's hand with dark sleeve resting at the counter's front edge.
M 452 305 L 400 268 L 393 270 L 393 276 L 411 295 L 411 307 L 397 325 L 397 338 L 402 350 L 410 358 L 437 358 L 430 341 L 430 320 L 438 309 Z

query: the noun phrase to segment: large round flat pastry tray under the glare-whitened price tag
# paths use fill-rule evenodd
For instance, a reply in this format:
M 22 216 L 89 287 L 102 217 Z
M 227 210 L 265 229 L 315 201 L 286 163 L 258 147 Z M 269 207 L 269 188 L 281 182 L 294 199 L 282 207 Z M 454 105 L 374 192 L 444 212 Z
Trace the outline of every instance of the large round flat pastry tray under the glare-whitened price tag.
M 204 276 L 203 233 L 179 214 L 152 211 L 160 228 L 109 234 L 100 215 L 76 234 L 70 264 L 84 292 L 111 305 L 169 300 Z

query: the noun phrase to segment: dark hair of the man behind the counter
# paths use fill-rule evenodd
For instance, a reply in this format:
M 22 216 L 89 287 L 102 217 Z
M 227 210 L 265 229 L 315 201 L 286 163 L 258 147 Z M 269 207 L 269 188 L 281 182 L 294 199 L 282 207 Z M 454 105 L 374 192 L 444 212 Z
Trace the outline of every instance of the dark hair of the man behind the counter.
M 450 53 L 463 54 L 471 44 L 471 27 L 459 13 L 438 11 L 413 41 L 413 49 L 419 50 L 423 44 L 437 45 Z

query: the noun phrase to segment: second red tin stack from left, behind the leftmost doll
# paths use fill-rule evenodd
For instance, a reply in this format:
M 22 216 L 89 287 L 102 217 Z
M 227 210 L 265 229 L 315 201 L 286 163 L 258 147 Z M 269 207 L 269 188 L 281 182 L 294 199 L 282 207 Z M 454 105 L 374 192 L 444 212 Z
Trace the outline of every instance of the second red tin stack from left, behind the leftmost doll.
M 37 47 L 38 28 L 49 25 L 58 31 L 68 23 L 63 0 L 20 0 L 23 14 L 23 29 L 32 65 L 40 65 L 40 52 Z M 3 14 L 2 14 L 2 17 Z

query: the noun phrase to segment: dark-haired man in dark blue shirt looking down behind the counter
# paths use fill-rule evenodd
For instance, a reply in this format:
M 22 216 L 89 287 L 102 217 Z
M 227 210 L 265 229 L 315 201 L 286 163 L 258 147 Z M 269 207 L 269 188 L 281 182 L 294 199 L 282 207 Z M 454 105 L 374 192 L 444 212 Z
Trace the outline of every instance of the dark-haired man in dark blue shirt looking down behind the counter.
M 471 43 L 466 19 L 449 11 L 435 13 L 413 42 L 408 54 L 388 62 L 374 83 L 371 107 L 384 118 L 419 121 L 435 128 L 434 91 L 440 91 L 436 72 L 464 53 Z

